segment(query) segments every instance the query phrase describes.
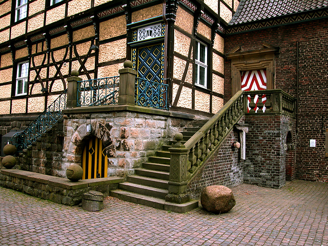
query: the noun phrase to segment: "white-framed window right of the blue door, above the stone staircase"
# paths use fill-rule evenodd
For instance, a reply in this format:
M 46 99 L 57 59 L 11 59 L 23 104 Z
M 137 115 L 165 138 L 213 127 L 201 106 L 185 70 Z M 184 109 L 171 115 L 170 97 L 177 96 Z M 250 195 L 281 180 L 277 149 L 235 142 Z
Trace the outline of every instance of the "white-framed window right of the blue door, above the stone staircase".
M 196 41 L 195 85 L 207 88 L 207 45 Z

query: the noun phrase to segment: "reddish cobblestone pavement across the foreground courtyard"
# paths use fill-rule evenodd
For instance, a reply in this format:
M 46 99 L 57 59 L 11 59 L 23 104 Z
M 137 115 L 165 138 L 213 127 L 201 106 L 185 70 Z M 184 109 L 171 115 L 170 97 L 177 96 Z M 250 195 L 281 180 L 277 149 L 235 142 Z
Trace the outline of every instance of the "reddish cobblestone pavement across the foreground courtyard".
M 232 189 L 231 212 L 186 214 L 107 198 L 87 212 L 0 188 L 0 245 L 328 245 L 328 183 Z

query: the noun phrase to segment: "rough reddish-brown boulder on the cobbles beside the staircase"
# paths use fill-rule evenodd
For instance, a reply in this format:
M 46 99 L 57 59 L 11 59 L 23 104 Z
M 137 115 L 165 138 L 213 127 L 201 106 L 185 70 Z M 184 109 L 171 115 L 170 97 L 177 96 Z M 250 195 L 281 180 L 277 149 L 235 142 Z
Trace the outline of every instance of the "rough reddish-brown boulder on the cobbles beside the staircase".
M 229 212 L 236 204 L 232 190 L 225 186 L 209 186 L 200 195 L 201 206 L 214 214 Z

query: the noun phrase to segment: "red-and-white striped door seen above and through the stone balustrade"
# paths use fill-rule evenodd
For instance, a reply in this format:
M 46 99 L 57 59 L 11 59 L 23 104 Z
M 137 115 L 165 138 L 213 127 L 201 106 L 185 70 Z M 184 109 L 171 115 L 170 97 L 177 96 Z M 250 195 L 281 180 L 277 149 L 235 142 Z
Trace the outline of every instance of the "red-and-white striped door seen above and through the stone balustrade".
M 266 70 L 253 70 L 253 71 L 241 71 L 241 90 L 242 91 L 259 91 L 267 89 L 267 71 Z M 248 105 L 250 104 L 251 97 L 248 97 Z M 267 101 L 267 97 L 262 95 L 262 103 Z M 258 95 L 254 98 L 254 103 L 257 104 Z M 257 107 L 255 112 L 257 112 Z M 250 111 L 250 107 L 248 107 Z M 263 112 L 265 107 L 263 108 Z

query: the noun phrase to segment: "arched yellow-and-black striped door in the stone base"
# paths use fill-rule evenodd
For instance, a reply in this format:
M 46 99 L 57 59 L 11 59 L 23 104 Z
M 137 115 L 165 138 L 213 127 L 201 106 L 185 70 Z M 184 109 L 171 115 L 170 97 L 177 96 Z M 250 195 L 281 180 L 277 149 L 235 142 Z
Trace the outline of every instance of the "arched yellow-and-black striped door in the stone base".
M 83 179 L 107 177 L 108 158 L 103 141 L 97 137 L 86 140 L 82 154 Z

